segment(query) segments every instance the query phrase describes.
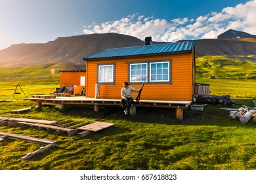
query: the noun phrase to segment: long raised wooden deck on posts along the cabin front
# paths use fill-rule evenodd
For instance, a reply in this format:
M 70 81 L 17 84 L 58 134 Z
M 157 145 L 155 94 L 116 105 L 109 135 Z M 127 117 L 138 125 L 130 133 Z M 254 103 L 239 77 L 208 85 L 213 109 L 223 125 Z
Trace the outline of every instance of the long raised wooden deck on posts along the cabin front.
M 88 105 L 95 107 L 119 107 L 121 105 L 121 99 L 95 99 L 87 97 L 56 97 L 56 98 L 42 98 L 32 97 L 25 98 L 24 100 L 30 100 L 37 103 L 37 107 L 41 107 L 42 103 L 51 103 L 59 105 L 60 108 L 64 105 Z M 140 100 L 133 104 L 134 107 L 163 107 L 163 108 L 176 108 L 176 118 L 183 119 L 183 108 L 188 108 L 192 101 L 156 101 L 156 100 Z M 95 110 L 96 111 L 96 110 Z

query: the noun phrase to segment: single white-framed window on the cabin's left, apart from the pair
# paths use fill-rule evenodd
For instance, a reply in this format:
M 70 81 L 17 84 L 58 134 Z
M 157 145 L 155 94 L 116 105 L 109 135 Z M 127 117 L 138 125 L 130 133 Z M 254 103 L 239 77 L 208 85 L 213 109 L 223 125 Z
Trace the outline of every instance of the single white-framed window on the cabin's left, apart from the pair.
M 98 82 L 114 83 L 114 64 L 98 65 Z

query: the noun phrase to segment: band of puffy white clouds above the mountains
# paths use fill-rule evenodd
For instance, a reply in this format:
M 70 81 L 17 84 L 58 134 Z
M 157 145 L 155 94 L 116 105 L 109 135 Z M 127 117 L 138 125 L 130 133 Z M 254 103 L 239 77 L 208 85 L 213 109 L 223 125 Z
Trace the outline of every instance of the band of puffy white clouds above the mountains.
M 181 39 L 214 39 L 228 29 L 256 32 L 256 0 L 236 7 L 223 8 L 221 12 L 209 12 L 196 19 L 176 18 L 171 21 L 132 14 L 116 21 L 85 25 L 83 33 L 120 33 L 144 40 L 174 42 Z

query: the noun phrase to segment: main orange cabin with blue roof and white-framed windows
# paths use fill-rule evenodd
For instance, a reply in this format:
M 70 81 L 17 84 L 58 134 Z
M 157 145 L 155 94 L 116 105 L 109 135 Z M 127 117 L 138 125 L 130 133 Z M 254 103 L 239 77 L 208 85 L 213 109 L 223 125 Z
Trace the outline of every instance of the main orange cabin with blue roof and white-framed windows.
M 139 89 L 141 99 L 192 101 L 196 83 L 194 41 L 112 48 L 83 58 L 87 61 L 86 97 L 121 99 L 123 82 Z M 133 98 L 137 93 L 133 93 Z

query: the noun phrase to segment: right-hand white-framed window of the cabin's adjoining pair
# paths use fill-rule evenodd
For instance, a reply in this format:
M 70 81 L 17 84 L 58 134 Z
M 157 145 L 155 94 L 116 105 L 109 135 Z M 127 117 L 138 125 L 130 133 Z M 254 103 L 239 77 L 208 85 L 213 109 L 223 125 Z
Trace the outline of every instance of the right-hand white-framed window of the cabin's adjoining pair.
M 169 81 L 169 62 L 150 63 L 150 81 L 168 82 Z

